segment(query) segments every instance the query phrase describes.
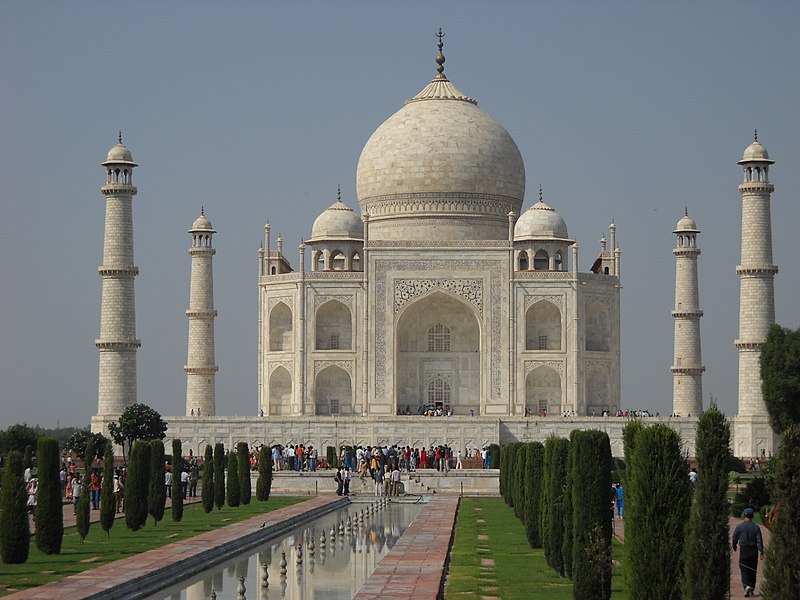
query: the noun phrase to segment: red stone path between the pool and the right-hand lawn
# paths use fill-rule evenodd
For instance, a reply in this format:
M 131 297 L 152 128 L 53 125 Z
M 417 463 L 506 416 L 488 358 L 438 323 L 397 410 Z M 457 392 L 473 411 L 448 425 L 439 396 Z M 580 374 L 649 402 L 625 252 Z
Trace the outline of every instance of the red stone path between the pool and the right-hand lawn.
M 458 496 L 436 495 L 378 563 L 357 600 L 436 600 L 444 589 Z

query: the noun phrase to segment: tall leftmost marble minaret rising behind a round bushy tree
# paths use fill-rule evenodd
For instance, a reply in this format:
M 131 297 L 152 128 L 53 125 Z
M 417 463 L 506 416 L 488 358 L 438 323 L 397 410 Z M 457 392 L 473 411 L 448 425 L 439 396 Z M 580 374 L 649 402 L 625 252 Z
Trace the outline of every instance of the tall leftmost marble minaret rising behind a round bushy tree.
M 106 223 L 103 238 L 103 265 L 98 269 L 103 279 L 100 309 L 100 338 L 95 346 L 100 352 L 97 414 L 119 415 L 136 403 L 136 303 L 134 277 L 139 269 L 133 264 L 133 162 L 130 151 L 119 143 L 102 163 L 106 184 L 100 192 L 106 197 Z

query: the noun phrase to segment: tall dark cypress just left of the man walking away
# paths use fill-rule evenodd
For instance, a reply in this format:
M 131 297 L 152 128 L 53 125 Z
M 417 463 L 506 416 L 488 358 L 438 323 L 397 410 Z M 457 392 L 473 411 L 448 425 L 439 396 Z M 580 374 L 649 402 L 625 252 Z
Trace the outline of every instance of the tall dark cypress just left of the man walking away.
M 731 427 L 716 404 L 697 420 L 695 448 L 700 477 L 694 491 L 684 550 L 686 600 L 724 598 L 730 590 L 728 464 Z

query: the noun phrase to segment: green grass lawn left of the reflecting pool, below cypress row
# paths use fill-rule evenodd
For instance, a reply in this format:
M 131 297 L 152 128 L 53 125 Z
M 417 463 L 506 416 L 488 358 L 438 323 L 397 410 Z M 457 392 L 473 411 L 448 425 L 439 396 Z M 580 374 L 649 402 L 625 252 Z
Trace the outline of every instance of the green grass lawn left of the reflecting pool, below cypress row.
M 75 527 L 64 530 L 61 554 L 43 554 L 36 548 L 31 536 L 31 551 L 28 562 L 21 565 L 0 566 L 0 596 L 50 583 L 97 566 L 128 556 L 159 548 L 172 542 L 219 529 L 238 521 L 302 502 L 306 498 L 273 496 L 267 502 L 253 499 L 250 504 L 230 508 L 214 509 L 206 514 L 200 503 L 186 505 L 183 520 L 172 520 L 170 509 L 164 512 L 164 520 L 153 526 L 150 518 L 139 531 L 125 527 L 125 519 L 117 519 L 106 538 L 100 523 L 92 523 L 86 541 L 81 545 Z

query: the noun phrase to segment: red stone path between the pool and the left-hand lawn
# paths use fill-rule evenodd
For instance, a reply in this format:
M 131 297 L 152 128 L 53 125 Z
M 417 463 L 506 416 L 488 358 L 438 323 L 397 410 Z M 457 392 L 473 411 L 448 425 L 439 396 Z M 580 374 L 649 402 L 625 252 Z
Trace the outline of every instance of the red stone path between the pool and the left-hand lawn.
M 274 525 L 289 522 L 291 528 L 299 520 L 302 520 L 306 513 L 324 510 L 326 505 L 331 503 L 345 504 L 346 502 L 346 499 L 336 496 L 320 496 L 6 597 L 15 600 L 22 598 L 51 600 L 52 598 L 89 598 L 105 593 L 105 596 L 99 597 L 122 598 L 126 596 L 124 588 L 115 590 L 113 594 L 109 594 L 108 590 L 121 585 L 132 586 L 133 589 L 136 589 L 137 581 L 141 584 L 142 581 L 151 579 L 157 571 L 165 568 L 167 569 L 163 572 L 166 577 L 169 577 L 170 572 L 174 573 L 177 570 L 187 574 L 199 572 L 209 566 L 220 554 L 238 553 L 237 548 L 241 546 L 243 538 L 271 537 L 274 534 L 270 534 L 269 530 Z M 68 508 L 69 517 L 74 522 L 72 507 Z M 94 517 L 94 513 L 99 512 L 92 511 L 92 516 Z

